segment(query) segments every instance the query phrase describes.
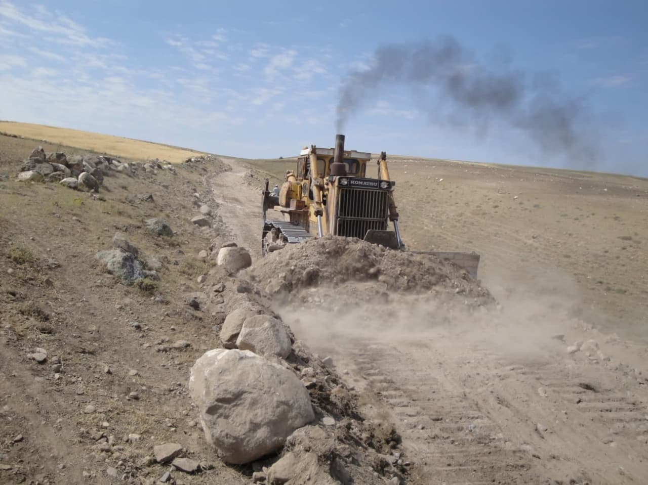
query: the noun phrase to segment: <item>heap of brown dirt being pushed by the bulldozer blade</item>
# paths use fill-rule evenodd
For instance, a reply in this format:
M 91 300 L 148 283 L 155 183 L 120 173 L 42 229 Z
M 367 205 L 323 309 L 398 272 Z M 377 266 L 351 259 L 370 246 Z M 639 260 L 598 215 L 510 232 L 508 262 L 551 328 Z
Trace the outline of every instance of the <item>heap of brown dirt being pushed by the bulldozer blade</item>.
M 295 296 L 318 285 L 367 283 L 366 291 L 375 294 L 434 291 L 470 297 L 478 304 L 492 301 L 487 289 L 450 262 L 338 236 L 312 238 L 275 251 L 255 265 L 251 278 L 266 282 L 271 295 Z

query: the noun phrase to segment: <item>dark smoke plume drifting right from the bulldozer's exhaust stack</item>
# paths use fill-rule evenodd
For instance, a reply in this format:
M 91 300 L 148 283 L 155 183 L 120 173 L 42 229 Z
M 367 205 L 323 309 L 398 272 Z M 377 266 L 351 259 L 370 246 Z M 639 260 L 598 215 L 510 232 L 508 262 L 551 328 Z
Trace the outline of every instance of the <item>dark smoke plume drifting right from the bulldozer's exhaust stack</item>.
M 347 75 L 337 108 L 338 133 L 383 88 L 410 87 L 430 122 L 487 129 L 502 122 L 524 131 L 544 153 L 596 159 L 589 110 L 562 93 L 554 76 L 512 69 L 507 60 L 480 63 L 451 37 L 379 47 L 371 64 Z M 432 98 L 432 99 L 431 99 Z

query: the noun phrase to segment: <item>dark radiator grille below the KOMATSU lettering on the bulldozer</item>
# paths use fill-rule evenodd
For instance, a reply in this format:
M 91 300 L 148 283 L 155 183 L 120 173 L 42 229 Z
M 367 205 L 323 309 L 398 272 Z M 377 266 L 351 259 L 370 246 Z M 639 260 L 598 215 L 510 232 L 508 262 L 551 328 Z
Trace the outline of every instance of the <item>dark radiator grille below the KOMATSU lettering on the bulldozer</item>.
M 338 236 L 364 239 L 369 229 L 387 229 L 389 192 L 365 188 L 340 188 Z

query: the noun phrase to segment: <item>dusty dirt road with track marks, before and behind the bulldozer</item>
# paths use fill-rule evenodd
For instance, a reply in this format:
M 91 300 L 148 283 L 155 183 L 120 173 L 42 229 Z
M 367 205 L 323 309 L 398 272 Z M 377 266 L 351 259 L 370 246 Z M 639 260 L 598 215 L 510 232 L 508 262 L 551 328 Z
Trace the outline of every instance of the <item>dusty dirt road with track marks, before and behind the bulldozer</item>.
M 249 221 L 259 213 L 246 200 L 258 197 L 241 183 L 248 168 L 228 163 L 233 171 L 214 182 L 214 195 L 222 216 L 238 221 L 233 230 L 240 242 L 255 247 L 259 228 Z M 438 229 L 406 227 L 415 242 L 434 232 L 461 246 Z M 506 240 L 520 237 L 515 228 L 507 234 Z M 434 306 L 415 314 L 411 305 L 393 302 L 384 310 L 396 309 L 400 317 L 386 326 L 377 303 L 352 321 L 335 321 L 308 304 L 280 311 L 297 337 L 334 357 L 367 416 L 397 423 L 413 483 L 642 482 L 648 476 L 648 349 L 576 318 L 577 291 L 567 276 L 555 278 L 558 270 L 527 288 L 519 279 L 502 280 L 498 262 L 524 254 L 516 244 L 497 249 L 511 253 L 487 264 L 490 275 L 500 276 L 491 276 L 502 284 L 499 312 L 439 311 L 437 319 Z M 529 271 L 538 262 L 548 269 L 552 258 L 540 254 Z M 526 268 L 516 269 L 520 275 Z M 305 312 L 308 319 L 300 318 Z

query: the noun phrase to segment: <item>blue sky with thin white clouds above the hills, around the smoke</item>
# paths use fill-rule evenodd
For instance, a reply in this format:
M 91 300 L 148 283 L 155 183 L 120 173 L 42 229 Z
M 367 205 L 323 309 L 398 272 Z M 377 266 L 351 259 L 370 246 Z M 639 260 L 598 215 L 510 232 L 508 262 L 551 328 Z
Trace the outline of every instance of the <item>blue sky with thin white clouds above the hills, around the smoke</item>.
M 515 120 L 457 121 L 434 86 L 423 109 L 399 82 L 350 113 L 348 148 L 648 176 L 647 20 L 646 1 L 0 0 L 0 118 L 290 156 L 332 146 L 340 86 L 376 48 L 450 35 L 470 65 L 550 73 L 596 161 L 547 153 Z

